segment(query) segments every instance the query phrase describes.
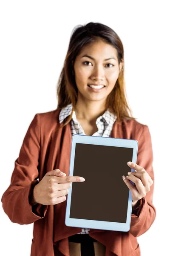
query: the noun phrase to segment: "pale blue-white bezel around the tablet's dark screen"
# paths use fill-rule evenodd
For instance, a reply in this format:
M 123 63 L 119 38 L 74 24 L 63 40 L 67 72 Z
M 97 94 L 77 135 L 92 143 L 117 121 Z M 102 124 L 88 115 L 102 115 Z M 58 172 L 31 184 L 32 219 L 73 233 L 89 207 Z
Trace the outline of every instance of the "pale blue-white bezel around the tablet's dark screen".
M 69 169 L 70 176 L 74 176 L 73 170 L 74 170 L 74 157 L 75 157 L 76 143 L 133 148 L 132 162 L 136 163 L 137 151 L 138 151 L 137 140 L 74 134 L 72 136 L 72 141 L 71 141 L 71 157 L 70 157 L 70 169 Z M 131 172 L 134 172 L 134 171 L 135 171 L 134 169 L 131 169 Z M 133 184 L 132 181 L 131 183 Z M 127 206 L 126 223 L 69 218 L 70 207 L 71 207 L 71 192 L 72 192 L 72 183 L 71 183 L 71 188 L 69 189 L 69 193 L 67 195 L 67 206 L 66 206 L 66 213 L 65 213 L 66 226 L 86 227 L 86 228 L 99 229 L 99 230 L 114 230 L 114 231 L 124 231 L 124 232 L 127 232 L 130 230 L 130 221 L 131 221 L 131 212 L 132 212 L 132 198 L 131 198 L 130 190 L 129 190 L 129 198 L 128 198 L 128 206 Z

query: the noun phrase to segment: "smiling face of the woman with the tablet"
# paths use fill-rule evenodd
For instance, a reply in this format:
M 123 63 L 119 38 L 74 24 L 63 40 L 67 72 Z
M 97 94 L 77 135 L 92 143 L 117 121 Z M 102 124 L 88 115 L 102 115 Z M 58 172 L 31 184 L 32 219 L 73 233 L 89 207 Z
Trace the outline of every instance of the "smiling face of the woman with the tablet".
M 122 63 L 118 63 L 116 49 L 110 44 L 99 40 L 85 46 L 74 63 L 78 99 L 105 102 L 116 84 L 121 68 Z M 88 84 L 100 84 L 105 87 L 98 90 Z

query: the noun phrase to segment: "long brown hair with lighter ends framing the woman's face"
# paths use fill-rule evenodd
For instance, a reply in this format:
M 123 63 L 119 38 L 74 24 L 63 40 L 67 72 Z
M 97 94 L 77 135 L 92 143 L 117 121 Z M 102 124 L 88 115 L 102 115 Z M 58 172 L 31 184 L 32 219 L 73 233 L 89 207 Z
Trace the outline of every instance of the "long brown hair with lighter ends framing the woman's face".
M 90 22 L 86 25 L 76 26 L 70 38 L 68 52 L 65 57 L 64 66 L 62 68 L 59 80 L 57 83 L 57 109 L 62 109 L 68 104 L 72 104 L 72 112 L 64 122 L 63 126 L 67 125 L 72 118 L 73 111 L 77 103 L 78 89 L 74 78 L 74 61 L 81 52 L 82 47 L 91 44 L 99 39 L 102 39 L 106 43 L 112 45 L 117 51 L 117 58 L 120 62 L 124 63 L 124 49 L 122 41 L 116 32 L 110 27 L 102 23 Z M 125 92 L 125 79 L 124 79 L 124 68 L 119 73 L 119 77 L 116 84 L 108 95 L 106 107 L 111 113 L 117 116 L 117 120 L 120 122 L 123 119 L 135 119 L 132 116 L 132 111 L 127 104 L 126 92 Z M 128 113 L 129 111 L 129 113 Z

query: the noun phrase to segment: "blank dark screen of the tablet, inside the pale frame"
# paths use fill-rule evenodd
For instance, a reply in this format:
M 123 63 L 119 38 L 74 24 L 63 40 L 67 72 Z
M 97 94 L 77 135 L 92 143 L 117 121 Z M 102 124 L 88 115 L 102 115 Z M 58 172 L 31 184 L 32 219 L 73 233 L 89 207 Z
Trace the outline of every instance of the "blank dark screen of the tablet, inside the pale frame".
M 131 169 L 133 148 L 76 143 L 70 218 L 126 223 L 129 189 L 122 180 Z

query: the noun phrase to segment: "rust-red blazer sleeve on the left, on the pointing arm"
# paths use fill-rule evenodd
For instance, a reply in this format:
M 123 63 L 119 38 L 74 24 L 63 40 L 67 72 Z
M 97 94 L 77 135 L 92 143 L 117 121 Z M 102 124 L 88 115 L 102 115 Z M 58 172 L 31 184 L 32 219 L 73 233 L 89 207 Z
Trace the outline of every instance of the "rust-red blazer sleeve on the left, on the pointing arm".
M 30 196 L 34 186 L 39 183 L 38 166 L 40 158 L 40 114 L 36 114 L 28 127 L 14 163 L 11 184 L 3 193 L 4 212 L 10 220 L 18 224 L 31 224 L 44 218 L 48 206 L 36 204 L 31 206 Z

